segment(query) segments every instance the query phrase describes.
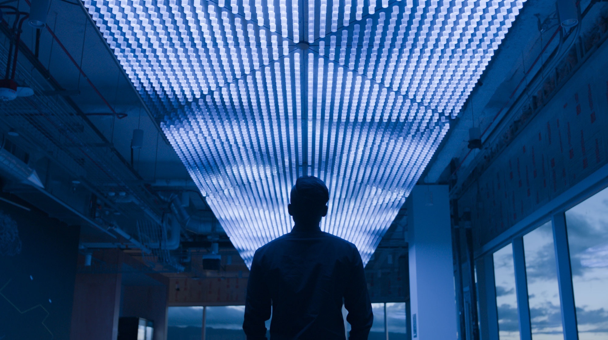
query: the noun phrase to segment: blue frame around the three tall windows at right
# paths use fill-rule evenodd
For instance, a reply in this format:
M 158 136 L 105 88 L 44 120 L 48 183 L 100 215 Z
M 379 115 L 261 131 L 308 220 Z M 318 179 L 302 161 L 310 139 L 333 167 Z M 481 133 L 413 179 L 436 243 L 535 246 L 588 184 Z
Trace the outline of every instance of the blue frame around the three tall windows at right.
M 551 221 L 553 230 L 564 340 L 578 340 L 565 211 L 606 188 L 608 188 L 608 165 L 602 166 L 593 174 L 583 178 L 474 252 L 480 315 L 487 316 L 487 318 L 480 318 L 482 340 L 499 340 L 492 254 L 509 243 L 513 245 L 520 339 L 532 339 L 523 236 L 549 221 Z

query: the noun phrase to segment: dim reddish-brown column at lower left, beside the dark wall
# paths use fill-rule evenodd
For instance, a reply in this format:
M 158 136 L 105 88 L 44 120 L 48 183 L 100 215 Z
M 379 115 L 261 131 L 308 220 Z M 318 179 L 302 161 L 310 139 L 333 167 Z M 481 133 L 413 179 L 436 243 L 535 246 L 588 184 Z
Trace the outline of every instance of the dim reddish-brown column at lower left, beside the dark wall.
M 105 251 L 106 264 L 120 267 L 122 251 Z M 76 274 L 72 340 L 116 340 L 122 274 Z

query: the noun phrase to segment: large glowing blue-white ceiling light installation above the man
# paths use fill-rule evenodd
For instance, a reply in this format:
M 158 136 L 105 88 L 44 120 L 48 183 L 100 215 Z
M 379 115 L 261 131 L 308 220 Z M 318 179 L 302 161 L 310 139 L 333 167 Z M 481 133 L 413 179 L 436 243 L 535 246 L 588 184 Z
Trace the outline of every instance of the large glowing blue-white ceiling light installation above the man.
M 85 0 L 247 264 L 304 174 L 367 263 L 522 5 Z

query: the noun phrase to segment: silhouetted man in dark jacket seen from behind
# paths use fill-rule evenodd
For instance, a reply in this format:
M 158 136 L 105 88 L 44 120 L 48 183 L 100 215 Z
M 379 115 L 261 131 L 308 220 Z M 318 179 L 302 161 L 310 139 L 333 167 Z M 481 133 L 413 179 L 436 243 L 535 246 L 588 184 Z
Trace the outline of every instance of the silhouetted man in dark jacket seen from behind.
M 330 199 L 325 183 L 303 176 L 291 188 L 287 206 L 291 233 L 254 254 L 249 273 L 243 330 L 248 340 L 345 339 L 342 301 L 350 339 L 367 339 L 373 314 L 359 251 L 319 228 Z

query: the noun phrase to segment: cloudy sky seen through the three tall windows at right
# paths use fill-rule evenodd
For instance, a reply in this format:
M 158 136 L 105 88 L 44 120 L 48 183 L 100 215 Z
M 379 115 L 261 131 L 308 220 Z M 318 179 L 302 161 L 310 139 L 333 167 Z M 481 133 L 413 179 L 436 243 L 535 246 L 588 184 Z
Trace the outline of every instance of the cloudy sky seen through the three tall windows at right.
M 565 213 L 579 340 L 608 339 L 608 189 Z M 533 340 L 563 340 L 551 223 L 523 236 Z M 519 340 L 513 249 L 494 253 L 500 340 Z

